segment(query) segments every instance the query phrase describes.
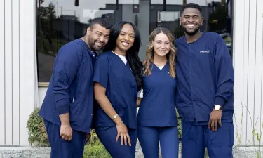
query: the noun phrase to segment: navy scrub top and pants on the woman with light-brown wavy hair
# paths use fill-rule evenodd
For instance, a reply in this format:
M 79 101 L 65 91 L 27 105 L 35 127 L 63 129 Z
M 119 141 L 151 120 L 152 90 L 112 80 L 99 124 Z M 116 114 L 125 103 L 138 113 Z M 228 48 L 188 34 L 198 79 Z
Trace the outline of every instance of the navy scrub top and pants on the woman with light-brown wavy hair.
M 178 157 L 175 112 L 177 78 L 170 76 L 168 62 L 160 70 L 152 63 L 151 75 L 143 76 L 143 98 L 138 112 L 137 136 L 145 158 Z

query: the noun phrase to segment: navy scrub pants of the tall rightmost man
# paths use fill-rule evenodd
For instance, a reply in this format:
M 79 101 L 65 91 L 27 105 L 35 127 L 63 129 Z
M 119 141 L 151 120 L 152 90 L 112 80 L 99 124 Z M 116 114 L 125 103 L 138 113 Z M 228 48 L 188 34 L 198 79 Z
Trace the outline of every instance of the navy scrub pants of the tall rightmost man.
M 210 158 L 232 158 L 234 126 L 232 122 L 222 122 L 217 131 L 207 126 L 193 125 L 182 121 L 182 158 L 203 158 L 205 147 Z

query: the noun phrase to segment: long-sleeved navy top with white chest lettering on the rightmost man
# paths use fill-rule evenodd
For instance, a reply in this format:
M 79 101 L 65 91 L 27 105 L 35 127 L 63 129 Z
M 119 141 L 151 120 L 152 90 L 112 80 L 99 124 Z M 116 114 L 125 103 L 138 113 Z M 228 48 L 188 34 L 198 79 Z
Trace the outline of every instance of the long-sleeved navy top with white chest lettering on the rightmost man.
M 222 121 L 232 121 L 234 112 L 234 69 L 226 44 L 219 34 L 203 32 L 177 47 L 177 110 L 182 121 L 208 124 L 214 105 L 222 106 Z

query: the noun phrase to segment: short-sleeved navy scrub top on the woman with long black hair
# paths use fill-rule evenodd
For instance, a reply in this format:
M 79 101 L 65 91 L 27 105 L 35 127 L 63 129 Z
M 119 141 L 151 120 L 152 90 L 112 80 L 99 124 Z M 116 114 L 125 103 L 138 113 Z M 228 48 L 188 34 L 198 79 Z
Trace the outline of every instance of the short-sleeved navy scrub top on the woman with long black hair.
M 123 123 L 130 129 L 137 129 L 137 83 L 129 63 L 125 65 L 112 51 L 103 53 L 97 58 L 93 82 L 106 88 L 106 96 Z M 95 127 L 116 126 L 100 105 L 95 108 Z

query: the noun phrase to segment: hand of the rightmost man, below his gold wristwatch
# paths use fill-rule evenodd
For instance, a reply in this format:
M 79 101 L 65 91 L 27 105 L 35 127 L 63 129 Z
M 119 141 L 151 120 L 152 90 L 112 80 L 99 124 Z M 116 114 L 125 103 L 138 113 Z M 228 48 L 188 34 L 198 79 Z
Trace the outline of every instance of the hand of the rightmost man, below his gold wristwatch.
M 213 111 L 210 114 L 208 129 L 212 129 L 212 131 L 217 131 L 217 124 L 222 126 L 221 117 L 222 117 L 222 110 L 213 109 Z

